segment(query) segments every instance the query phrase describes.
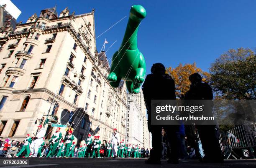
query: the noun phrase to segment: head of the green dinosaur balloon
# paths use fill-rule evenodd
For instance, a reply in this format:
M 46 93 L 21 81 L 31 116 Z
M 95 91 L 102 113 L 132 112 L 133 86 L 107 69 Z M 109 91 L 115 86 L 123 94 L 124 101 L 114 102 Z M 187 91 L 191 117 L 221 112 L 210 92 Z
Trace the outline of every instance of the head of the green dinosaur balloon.
M 141 5 L 133 5 L 130 10 L 130 17 L 134 21 L 141 21 L 142 19 L 146 18 L 146 10 Z

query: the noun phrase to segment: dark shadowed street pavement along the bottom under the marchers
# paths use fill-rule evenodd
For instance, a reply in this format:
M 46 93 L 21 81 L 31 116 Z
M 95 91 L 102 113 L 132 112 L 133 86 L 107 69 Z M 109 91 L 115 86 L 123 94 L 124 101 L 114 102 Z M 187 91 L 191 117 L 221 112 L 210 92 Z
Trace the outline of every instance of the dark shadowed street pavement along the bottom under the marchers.
M 224 163 L 200 163 L 198 160 L 182 160 L 179 164 L 148 165 L 145 158 L 0 158 L 3 160 L 28 159 L 29 165 L 7 165 L 4 168 L 256 168 L 256 160 L 225 160 Z M 2 165 L 2 164 L 1 164 Z

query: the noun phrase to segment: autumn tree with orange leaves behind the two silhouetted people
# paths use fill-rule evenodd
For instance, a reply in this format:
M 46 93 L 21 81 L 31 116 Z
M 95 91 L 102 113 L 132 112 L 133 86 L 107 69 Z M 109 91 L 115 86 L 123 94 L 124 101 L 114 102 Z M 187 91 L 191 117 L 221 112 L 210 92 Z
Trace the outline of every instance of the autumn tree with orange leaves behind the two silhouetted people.
M 197 68 L 196 63 L 193 64 L 179 64 L 176 68 L 166 68 L 166 73 L 172 76 L 176 85 L 176 97 L 182 99 L 185 93 L 189 90 L 190 81 L 189 75 L 199 73 L 202 76 L 202 81 L 209 82 L 210 74 Z

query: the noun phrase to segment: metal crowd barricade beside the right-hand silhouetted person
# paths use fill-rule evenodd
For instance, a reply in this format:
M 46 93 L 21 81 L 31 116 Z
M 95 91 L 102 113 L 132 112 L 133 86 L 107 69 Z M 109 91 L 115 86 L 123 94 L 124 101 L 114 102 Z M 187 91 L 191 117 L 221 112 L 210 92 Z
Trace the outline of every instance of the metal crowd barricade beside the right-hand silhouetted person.
M 220 147 L 226 159 L 248 158 L 256 147 L 255 125 L 238 125 L 220 133 Z

